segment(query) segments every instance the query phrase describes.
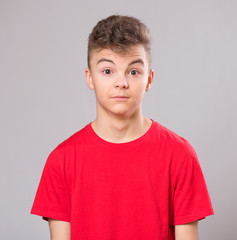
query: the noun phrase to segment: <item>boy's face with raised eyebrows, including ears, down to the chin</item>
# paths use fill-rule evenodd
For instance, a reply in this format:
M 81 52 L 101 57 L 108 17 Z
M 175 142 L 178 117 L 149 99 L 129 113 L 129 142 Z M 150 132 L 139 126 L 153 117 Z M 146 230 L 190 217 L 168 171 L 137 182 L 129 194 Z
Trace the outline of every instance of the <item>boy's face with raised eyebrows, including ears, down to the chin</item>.
M 91 71 L 87 68 L 85 72 L 88 87 L 95 90 L 97 114 L 124 117 L 141 110 L 144 93 L 154 77 L 142 45 L 132 46 L 126 53 L 94 51 Z

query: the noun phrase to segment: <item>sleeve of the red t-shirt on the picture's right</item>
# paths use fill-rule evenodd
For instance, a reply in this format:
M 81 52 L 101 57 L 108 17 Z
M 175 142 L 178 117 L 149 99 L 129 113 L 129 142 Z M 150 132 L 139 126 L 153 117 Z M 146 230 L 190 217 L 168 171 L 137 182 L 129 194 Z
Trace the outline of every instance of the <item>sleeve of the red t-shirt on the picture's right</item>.
M 188 141 L 186 147 L 174 193 L 174 225 L 201 220 L 214 214 L 197 154 Z

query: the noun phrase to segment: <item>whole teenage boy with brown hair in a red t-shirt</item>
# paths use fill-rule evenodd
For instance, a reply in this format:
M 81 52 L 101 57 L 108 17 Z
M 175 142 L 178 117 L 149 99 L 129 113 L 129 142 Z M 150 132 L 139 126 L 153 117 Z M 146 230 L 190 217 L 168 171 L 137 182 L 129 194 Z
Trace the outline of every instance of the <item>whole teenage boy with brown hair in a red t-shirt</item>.
M 197 240 L 213 208 L 190 143 L 142 114 L 153 83 L 150 37 L 113 15 L 89 36 L 97 115 L 49 155 L 31 213 L 53 240 Z

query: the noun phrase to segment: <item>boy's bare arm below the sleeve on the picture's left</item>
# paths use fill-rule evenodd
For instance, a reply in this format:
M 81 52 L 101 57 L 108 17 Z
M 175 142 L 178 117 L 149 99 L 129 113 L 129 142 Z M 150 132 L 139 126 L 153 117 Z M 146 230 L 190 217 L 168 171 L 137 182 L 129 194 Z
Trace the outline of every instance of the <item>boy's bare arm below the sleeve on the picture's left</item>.
M 70 222 L 60 221 L 52 218 L 49 218 L 48 221 L 51 240 L 71 239 Z

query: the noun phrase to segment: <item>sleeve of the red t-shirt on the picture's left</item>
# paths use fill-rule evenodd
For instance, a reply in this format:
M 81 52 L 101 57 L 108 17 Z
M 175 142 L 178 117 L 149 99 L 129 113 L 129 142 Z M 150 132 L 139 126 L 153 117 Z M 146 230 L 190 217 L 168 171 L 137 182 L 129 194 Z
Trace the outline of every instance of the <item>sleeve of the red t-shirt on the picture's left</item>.
M 31 214 L 42 216 L 46 221 L 53 218 L 70 222 L 63 166 L 63 157 L 56 148 L 45 163 Z

